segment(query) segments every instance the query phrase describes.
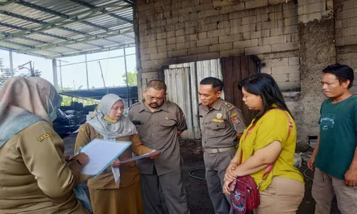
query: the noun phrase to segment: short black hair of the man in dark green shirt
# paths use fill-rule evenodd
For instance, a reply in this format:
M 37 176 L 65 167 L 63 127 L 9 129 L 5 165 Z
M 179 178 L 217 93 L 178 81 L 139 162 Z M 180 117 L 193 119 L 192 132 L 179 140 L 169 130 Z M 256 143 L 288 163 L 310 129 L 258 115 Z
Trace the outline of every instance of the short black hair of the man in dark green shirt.
M 350 66 L 343 65 L 343 64 L 333 64 L 331 66 L 327 66 L 323 69 L 323 73 L 331 73 L 338 78 L 338 81 L 341 83 L 350 81 L 348 88 L 353 86 L 353 80 L 355 78 L 353 69 Z

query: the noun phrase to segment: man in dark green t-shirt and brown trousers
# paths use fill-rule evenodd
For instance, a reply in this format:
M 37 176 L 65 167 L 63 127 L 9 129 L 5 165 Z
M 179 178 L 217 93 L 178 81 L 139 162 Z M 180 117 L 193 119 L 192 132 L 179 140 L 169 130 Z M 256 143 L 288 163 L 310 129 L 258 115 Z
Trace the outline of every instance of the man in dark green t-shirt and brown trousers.
M 357 96 L 353 69 L 334 64 L 323 69 L 323 101 L 320 111 L 318 143 L 308 161 L 313 170 L 312 195 L 315 214 L 330 213 L 336 193 L 342 214 L 357 213 Z

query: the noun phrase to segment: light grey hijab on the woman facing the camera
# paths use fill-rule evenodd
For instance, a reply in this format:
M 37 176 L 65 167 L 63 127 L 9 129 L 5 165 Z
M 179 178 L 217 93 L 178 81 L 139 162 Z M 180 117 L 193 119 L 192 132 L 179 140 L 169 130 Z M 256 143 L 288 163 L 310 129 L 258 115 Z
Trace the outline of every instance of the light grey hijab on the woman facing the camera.
M 117 101 L 122 101 L 124 104 L 124 100 L 114 93 L 109 93 L 101 98 L 98 108 L 94 111 L 94 116 L 88 121 L 88 123 L 106 140 L 115 141 L 116 138 L 131 136 L 138 133 L 134 124 L 131 123 L 126 116 L 122 116 L 116 123 L 111 123 L 104 118 L 104 116 L 109 116 L 111 107 L 113 107 L 114 103 Z

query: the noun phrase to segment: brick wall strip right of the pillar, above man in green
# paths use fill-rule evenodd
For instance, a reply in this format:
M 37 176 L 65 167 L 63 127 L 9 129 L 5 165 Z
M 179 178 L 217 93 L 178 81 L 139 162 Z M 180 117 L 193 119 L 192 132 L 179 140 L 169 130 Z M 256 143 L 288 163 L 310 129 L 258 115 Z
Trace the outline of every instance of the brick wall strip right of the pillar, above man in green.
M 334 9 L 337 62 L 346 63 L 357 71 L 357 1 L 335 0 Z M 354 93 L 357 93 L 356 79 L 352 88 Z

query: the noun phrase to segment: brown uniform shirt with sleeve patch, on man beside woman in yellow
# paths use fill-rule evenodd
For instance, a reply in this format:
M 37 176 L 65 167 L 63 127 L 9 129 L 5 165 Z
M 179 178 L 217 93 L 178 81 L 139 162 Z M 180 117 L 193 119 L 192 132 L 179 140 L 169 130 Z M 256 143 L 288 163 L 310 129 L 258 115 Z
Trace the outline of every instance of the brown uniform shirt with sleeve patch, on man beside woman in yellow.
M 199 117 L 203 148 L 236 146 L 236 133 L 243 133 L 246 124 L 241 110 L 219 99 L 212 108 L 199 105 Z

